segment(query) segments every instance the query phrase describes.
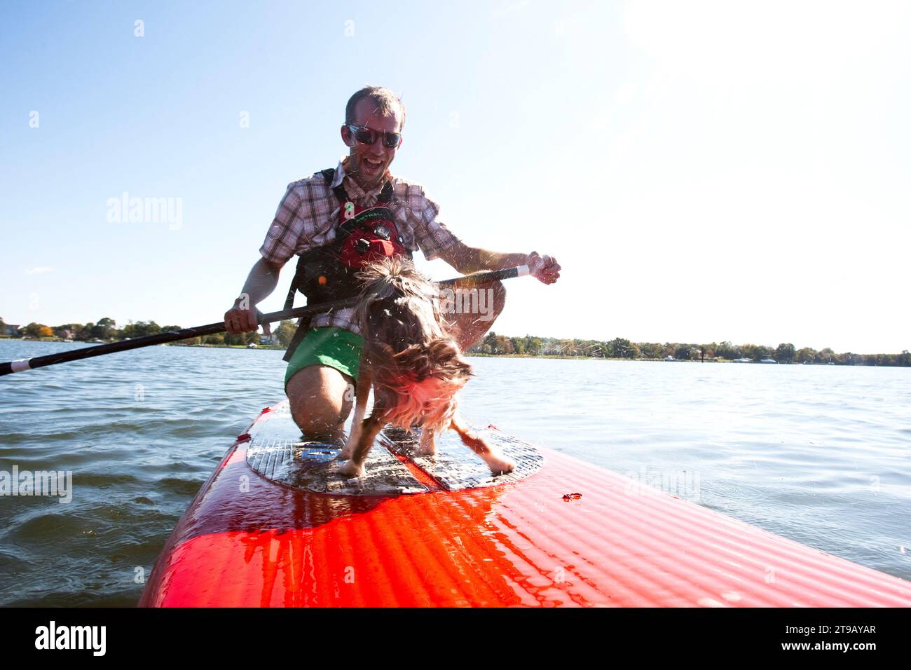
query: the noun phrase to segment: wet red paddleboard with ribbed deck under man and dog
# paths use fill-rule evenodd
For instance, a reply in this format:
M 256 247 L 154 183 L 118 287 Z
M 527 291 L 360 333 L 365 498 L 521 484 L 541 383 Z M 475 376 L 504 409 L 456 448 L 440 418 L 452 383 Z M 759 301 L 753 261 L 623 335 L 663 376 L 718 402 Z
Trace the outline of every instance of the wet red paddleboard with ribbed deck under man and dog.
M 911 583 L 607 469 L 482 431 L 414 458 L 378 439 L 363 479 L 263 410 L 180 518 L 140 600 L 169 607 L 911 605 Z

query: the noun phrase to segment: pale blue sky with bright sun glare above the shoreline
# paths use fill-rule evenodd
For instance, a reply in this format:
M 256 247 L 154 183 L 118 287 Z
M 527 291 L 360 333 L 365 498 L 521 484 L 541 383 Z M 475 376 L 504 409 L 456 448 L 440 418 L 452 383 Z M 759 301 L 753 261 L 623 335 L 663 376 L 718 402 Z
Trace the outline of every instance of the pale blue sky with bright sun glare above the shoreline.
M 885 2 L 5 3 L 0 316 L 219 320 L 369 83 L 441 221 L 563 266 L 496 332 L 898 352 L 909 34 Z M 108 221 L 124 192 L 179 225 Z

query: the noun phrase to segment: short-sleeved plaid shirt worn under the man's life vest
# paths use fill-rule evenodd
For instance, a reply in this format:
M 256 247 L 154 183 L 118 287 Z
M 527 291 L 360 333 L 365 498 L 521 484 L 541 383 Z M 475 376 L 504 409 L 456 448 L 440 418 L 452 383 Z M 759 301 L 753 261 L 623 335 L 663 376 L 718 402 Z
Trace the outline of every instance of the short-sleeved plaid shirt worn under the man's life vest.
M 443 222 L 436 221 L 439 205 L 427 198 L 420 185 L 392 177 L 388 171 L 386 177 L 393 182 L 393 197 L 387 207 L 395 214 L 396 228 L 406 248 L 412 252 L 420 249 L 425 258 L 432 261 L 459 242 Z M 265 242 L 262 242 L 262 257 L 271 263 L 284 264 L 295 254 L 301 255 L 313 247 L 332 242 L 342 208 L 333 188 L 342 180 L 348 197 L 359 207 L 374 205 L 383 191 L 381 184 L 373 191 L 364 192 L 345 174 L 343 160 L 339 161 L 331 184 L 319 172 L 307 179 L 292 181 L 275 212 Z M 361 335 L 360 327 L 354 323 L 353 312 L 353 308 L 347 308 L 315 314 L 310 327 L 336 325 Z

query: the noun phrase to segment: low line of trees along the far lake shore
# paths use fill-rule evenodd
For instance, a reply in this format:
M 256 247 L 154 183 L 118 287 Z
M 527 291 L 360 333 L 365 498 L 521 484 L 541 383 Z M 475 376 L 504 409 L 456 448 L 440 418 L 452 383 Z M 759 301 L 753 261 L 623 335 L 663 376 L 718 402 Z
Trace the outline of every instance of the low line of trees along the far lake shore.
M 272 329 L 277 345 L 287 346 L 294 335 L 293 321 L 282 321 Z M 0 319 L 0 333 L 5 333 L 3 319 Z M 19 337 L 57 337 L 77 341 L 135 339 L 145 335 L 158 335 L 171 330 L 180 330 L 179 325 L 158 325 L 154 321 L 129 322 L 118 328 L 113 319 L 98 319 L 97 323 L 64 324 L 48 326 L 32 323 L 22 326 L 9 335 Z M 206 335 L 183 341 L 188 345 L 247 345 L 260 344 L 258 332 L 230 335 Z M 631 342 L 623 337 L 612 340 L 560 339 L 556 337 L 509 337 L 488 333 L 469 353 L 491 356 L 579 356 L 593 358 L 625 358 L 632 360 L 663 360 L 668 356 L 675 360 L 740 360 L 760 361 L 773 359 L 782 364 L 813 363 L 836 366 L 911 366 L 911 354 L 907 349 L 900 354 L 856 354 L 854 352 L 836 353 L 831 348 L 816 350 L 806 346 L 801 349 L 790 343 L 777 347 L 764 345 L 734 345 L 731 342 L 711 342 L 710 344 L 681 344 L 665 342 Z

